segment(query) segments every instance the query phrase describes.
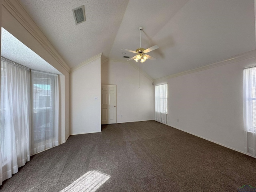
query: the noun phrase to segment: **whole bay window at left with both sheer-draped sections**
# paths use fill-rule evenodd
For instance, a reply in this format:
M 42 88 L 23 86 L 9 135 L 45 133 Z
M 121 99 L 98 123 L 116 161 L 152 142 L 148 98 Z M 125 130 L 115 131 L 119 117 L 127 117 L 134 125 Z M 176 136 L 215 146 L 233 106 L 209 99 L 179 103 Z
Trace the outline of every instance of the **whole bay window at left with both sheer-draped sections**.
M 30 160 L 58 145 L 58 74 L 1 57 L 0 185 Z M 32 138 L 30 140 L 30 138 Z

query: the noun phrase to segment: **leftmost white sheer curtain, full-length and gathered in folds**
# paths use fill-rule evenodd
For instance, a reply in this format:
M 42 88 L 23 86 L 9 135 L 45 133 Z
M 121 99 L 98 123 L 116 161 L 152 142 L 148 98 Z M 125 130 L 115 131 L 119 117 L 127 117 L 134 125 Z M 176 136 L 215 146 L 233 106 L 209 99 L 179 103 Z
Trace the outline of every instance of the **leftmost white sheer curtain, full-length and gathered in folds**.
M 1 57 L 0 184 L 30 160 L 29 68 Z

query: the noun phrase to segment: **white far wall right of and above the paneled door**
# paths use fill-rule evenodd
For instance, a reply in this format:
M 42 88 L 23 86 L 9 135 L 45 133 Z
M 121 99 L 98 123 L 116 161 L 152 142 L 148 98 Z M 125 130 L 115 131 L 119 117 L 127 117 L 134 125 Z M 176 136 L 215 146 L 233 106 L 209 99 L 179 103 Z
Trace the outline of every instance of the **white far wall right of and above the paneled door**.
M 108 60 L 101 65 L 101 84 L 116 85 L 116 122 L 154 119 L 154 86 L 128 62 Z

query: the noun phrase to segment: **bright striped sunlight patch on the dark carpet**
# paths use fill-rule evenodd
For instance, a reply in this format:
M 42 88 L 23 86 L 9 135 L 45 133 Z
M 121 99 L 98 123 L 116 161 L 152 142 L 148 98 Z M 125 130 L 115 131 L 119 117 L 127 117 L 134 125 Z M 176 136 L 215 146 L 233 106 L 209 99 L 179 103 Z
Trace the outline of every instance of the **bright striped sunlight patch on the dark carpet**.
M 111 176 L 99 171 L 88 171 L 61 192 L 94 192 Z

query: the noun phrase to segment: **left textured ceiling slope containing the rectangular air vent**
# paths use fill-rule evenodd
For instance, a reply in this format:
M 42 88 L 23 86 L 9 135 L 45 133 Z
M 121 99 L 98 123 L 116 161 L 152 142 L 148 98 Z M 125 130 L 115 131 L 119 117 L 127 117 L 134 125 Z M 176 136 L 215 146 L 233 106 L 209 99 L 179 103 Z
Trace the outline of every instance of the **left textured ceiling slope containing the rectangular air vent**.
M 108 58 L 128 0 L 19 0 L 70 68 L 102 54 Z M 73 8 L 86 21 L 75 24 Z

